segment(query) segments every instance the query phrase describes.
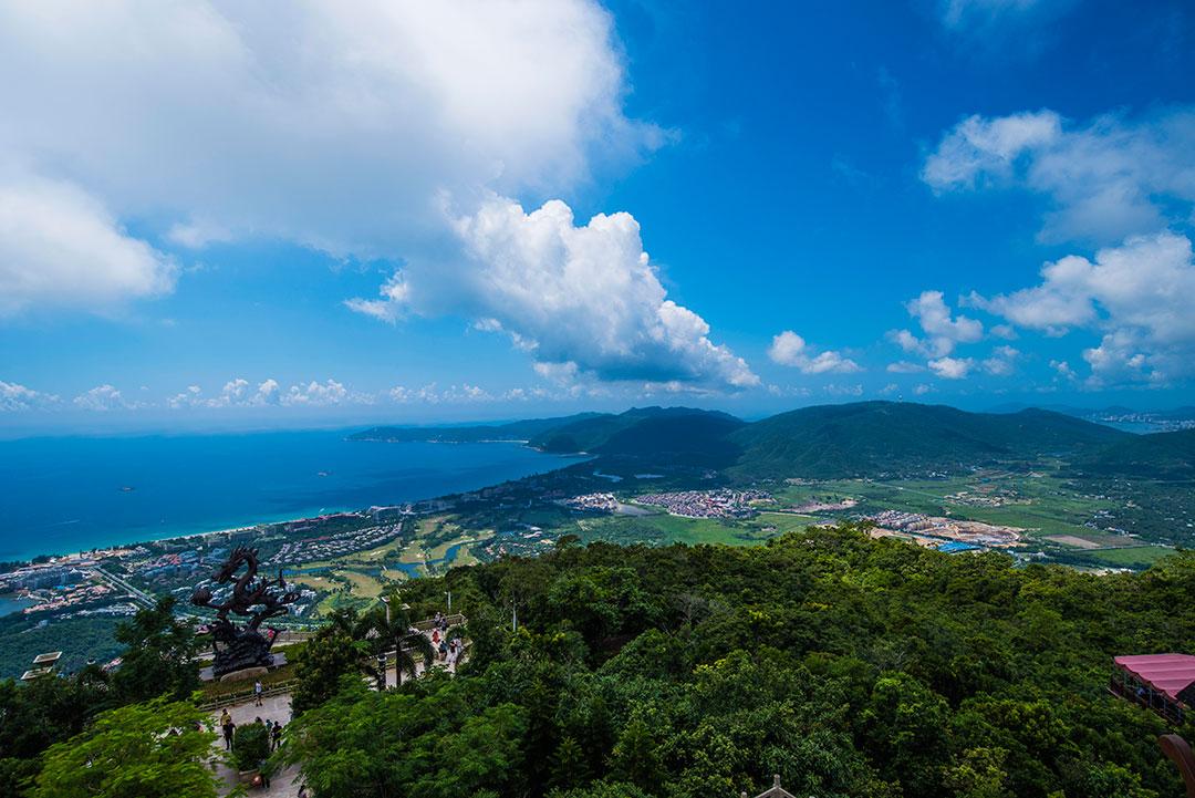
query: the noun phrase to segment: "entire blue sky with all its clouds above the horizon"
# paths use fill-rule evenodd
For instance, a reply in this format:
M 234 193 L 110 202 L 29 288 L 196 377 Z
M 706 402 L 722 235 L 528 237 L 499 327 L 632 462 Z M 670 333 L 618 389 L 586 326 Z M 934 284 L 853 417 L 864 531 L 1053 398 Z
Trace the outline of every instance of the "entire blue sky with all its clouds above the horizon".
M 1193 401 L 1189 4 L 277 14 L 0 11 L 0 428 Z

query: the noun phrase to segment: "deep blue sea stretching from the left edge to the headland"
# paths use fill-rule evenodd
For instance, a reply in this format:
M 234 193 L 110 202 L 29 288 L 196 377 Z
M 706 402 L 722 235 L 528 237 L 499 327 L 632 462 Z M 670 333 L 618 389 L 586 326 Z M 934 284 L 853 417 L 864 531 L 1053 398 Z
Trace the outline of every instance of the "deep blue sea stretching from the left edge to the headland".
M 575 462 L 351 431 L 0 441 L 0 560 L 433 498 Z

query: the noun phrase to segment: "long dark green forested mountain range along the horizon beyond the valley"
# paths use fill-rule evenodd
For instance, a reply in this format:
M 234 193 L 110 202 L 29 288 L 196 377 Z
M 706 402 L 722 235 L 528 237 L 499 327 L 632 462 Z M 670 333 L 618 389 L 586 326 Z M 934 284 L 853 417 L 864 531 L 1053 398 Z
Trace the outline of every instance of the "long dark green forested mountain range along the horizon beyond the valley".
M 863 401 L 803 407 L 746 423 L 721 412 L 643 407 L 496 426 L 378 428 L 373 440 L 527 440 L 545 452 L 635 459 L 643 467 L 722 468 L 741 479 L 835 479 L 1091 454 L 1133 436 L 1046 410 L 970 413 L 944 405 Z

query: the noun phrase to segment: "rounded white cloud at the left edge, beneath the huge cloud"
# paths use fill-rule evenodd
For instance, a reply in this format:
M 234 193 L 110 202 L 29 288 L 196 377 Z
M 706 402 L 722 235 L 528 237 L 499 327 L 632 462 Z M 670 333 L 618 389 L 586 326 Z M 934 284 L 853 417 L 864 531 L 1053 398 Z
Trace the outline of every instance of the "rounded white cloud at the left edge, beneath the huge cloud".
M 170 291 L 174 272 L 79 186 L 0 173 L 0 317 L 30 306 L 108 311 Z

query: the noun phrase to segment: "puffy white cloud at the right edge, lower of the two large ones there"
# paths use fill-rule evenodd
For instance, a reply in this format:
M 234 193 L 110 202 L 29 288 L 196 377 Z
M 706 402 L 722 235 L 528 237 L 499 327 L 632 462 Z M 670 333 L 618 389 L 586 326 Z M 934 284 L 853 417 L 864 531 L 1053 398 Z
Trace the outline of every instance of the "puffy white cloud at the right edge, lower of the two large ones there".
M 1047 263 L 1037 286 L 973 303 L 1049 334 L 1101 332 L 1084 351 L 1098 381 L 1154 381 L 1195 374 L 1195 258 L 1183 235 L 1133 237 L 1096 252 Z

